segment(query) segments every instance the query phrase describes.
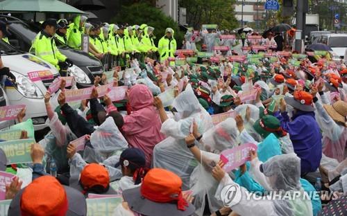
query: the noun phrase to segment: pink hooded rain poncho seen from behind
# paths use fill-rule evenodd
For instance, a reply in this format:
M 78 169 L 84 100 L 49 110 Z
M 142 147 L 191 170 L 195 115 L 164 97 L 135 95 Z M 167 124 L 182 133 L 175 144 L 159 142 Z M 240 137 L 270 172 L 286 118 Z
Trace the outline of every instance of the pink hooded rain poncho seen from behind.
M 144 84 L 130 89 L 129 104 L 133 112 L 124 116 L 123 131 L 130 147 L 138 147 L 146 155 L 146 166 L 150 167 L 155 144 L 165 136 L 160 133 L 162 123 L 153 107 L 153 95 Z

